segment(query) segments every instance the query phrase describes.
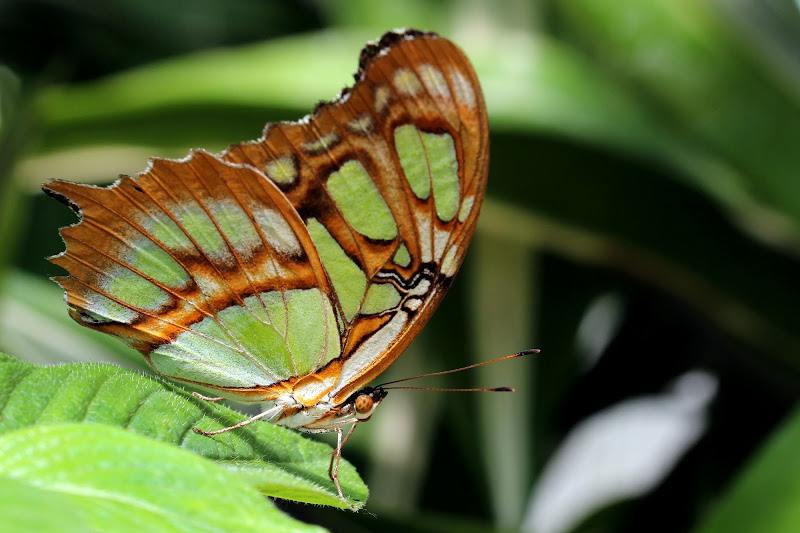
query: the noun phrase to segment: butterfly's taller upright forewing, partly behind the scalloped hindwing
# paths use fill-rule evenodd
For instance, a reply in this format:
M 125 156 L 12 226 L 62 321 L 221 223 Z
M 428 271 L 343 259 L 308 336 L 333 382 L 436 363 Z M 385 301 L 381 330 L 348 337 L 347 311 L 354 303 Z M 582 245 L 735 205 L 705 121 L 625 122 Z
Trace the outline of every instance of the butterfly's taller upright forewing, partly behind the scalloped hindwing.
M 477 76 L 446 39 L 389 33 L 353 88 L 223 157 L 264 172 L 309 228 L 344 323 L 340 403 L 400 355 L 464 257 L 489 162 Z

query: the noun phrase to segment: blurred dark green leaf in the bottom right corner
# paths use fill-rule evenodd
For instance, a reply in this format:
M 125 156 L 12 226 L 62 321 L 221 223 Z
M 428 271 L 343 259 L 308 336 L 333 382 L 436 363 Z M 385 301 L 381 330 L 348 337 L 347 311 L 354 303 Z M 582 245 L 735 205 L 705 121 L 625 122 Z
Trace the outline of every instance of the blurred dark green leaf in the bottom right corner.
M 800 410 L 770 439 L 697 533 L 800 531 Z

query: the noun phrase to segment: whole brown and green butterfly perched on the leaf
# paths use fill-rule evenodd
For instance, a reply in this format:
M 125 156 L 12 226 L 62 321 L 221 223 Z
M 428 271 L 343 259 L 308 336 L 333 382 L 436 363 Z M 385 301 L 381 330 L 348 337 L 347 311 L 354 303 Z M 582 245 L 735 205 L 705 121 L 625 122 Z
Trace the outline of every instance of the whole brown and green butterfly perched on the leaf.
M 444 296 L 489 165 L 478 78 L 450 41 L 387 33 L 355 78 L 221 155 L 43 187 L 81 217 L 50 258 L 72 318 L 172 380 L 266 406 L 246 423 L 337 431 L 342 499 L 342 426 L 370 418 L 386 391 L 367 383 Z

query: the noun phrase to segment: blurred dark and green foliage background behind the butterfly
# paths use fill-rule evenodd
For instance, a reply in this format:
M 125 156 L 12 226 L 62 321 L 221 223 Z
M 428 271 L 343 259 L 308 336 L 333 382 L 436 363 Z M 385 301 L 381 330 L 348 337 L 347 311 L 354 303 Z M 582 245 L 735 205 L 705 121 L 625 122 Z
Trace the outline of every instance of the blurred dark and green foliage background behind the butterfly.
M 43 181 L 108 183 L 150 156 L 255 138 L 332 98 L 364 42 L 402 26 L 473 60 L 492 156 L 465 267 L 387 379 L 543 352 L 438 383 L 517 389 L 501 398 L 393 392 L 345 448 L 377 518 L 281 508 L 333 531 L 532 531 L 582 422 L 699 370 L 716 389 L 697 439 L 652 486 L 563 530 L 800 530 L 791 0 L 7 0 L 0 349 L 140 364 L 73 324 L 44 280 L 75 219 Z

